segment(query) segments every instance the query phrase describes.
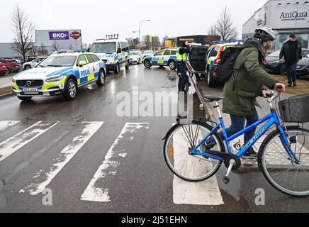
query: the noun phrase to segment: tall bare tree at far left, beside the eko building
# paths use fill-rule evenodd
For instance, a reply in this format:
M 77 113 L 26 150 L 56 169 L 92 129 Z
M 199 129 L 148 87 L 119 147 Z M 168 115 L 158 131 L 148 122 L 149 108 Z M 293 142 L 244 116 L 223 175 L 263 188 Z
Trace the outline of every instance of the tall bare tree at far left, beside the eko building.
M 23 55 L 23 60 L 26 62 L 26 54 L 33 47 L 35 26 L 18 5 L 12 13 L 11 21 L 15 33 L 11 48 Z

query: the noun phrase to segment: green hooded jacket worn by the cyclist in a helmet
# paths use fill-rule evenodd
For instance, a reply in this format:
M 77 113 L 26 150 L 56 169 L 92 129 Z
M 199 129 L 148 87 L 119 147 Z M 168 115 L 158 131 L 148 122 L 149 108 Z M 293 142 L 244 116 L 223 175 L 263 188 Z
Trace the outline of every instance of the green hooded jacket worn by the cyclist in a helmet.
M 253 116 L 256 98 L 264 86 L 274 89 L 276 79 L 265 72 L 265 52 L 256 38 L 246 40 L 234 65 L 234 75 L 225 83 L 223 112 L 236 116 Z M 259 106 L 260 107 L 260 106 Z

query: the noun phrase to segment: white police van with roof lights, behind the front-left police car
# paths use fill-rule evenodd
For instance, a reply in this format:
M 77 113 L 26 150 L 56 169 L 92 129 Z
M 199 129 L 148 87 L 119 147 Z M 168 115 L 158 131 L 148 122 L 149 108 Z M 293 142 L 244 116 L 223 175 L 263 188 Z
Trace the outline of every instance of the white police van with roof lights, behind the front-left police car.
M 90 52 L 94 52 L 106 64 L 107 71 L 118 74 L 120 67 L 130 67 L 128 52 L 129 43 L 125 39 L 98 39 L 92 43 Z

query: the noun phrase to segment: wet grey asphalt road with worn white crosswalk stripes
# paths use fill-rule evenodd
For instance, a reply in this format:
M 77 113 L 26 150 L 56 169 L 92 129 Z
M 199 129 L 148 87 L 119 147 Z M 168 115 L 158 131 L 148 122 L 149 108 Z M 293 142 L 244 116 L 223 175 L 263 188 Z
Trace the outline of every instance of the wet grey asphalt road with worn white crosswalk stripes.
M 162 138 L 175 117 L 116 114 L 116 94 L 128 92 L 132 96 L 133 86 L 152 94 L 176 91 L 177 82 L 167 78 L 169 73 L 167 68 L 131 66 L 130 71 L 121 70 L 118 75 L 108 73 L 104 87 L 81 89 L 74 101 L 64 101 L 61 96 L 35 98 L 30 103 L 15 96 L 1 99 L 0 121 L 17 122 L 0 130 L 0 150 L 13 151 L 4 160 L 0 157 L 0 211 L 309 211 L 309 199 L 277 192 L 256 169 L 232 174 L 230 184 L 225 185 L 221 180 L 225 167 L 217 174 L 223 205 L 174 204 L 174 176 L 164 162 Z M 220 94 L 220 89 L 210 89 L 209 94 Z M 43 125 L 38 126 L 37 137 L 29 134 L 18 140 L 21 135 L 16 134 L 31 133 L 33 128 L 27 128 L 38 121 Z M 266 192 L 265 206 L 254 202 L 258 188 Z M 43 205 L 43 189 L 51 189 L 52 206 Z M 99 198 L 93 196 L 96 190 L 101 190 Z

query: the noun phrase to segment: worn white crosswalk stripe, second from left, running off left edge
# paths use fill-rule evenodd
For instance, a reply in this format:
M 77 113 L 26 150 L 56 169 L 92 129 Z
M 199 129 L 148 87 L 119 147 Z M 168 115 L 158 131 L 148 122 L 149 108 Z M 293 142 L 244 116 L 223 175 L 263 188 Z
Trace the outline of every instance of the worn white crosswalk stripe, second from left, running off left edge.
M 0 143 L 0 162 L 6 159 L 6 157 L 9 157 L 15 153 L 27 143 L 30 143 L 35 138 L 38 138 L 38 136 L 42 135 L 50 128 L 54 127 L 58 122 L 59 121 L 44 123 L 43 121 L 38 121 L 33 126 L 26 128 L 21 133 L 18 133 Z

